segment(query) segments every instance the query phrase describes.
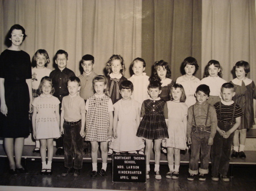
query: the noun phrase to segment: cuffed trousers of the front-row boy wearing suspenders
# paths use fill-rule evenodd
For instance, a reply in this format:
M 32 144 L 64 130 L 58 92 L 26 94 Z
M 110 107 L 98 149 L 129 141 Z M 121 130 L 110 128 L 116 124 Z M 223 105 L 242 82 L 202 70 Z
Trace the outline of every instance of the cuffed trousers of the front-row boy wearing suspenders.
M 210 133 L 205 131 L 196 131 L 191 133 L 191 155 L 189 160 L 189 173 L 193 175 L 198 174 L 198 161 L 201 148 L 201 165 L 199 172 L 203 174 L 208 173 L 209 158 L 210 158 L 210 146 L 208 145 L 208 139 Z

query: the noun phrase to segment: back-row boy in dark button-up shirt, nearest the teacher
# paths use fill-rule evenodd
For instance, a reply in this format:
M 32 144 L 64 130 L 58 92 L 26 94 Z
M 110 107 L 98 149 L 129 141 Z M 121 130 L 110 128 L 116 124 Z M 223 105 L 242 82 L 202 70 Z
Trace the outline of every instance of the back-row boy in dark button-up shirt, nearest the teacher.
M 60 108 L 61 101 L 64 96 L 68 95 L 67 82 L 69 77 L 75 77 L 75 73 L 72 70 L 67 68 L 68 63 L 68 53 L 65 50 L 58 50 L 55 54 L 55 63 L 57 65 L 57 69 L 53 70 L 49 77 L 52 78 L 53 87 L 55 88 L 55 92 L 53 96 L 57 97 L 60 100 Z M 56 155 L 64 155 L 63 150 L 63 136 L 59 139 L 56 139 Z

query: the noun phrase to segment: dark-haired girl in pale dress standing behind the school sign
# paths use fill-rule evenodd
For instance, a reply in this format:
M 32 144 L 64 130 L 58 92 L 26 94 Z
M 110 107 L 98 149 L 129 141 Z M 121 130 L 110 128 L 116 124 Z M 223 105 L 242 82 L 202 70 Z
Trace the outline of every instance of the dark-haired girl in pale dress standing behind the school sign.
M 120 84 L 122 99 L 117 101 L 114 106 L 113 138 L 110 145 L 117 154 L 129 152 L 136 154 L 138 150 L 144 148 L 141 138 L 136 136 L 139 122 L 139 103 L 131 99 L 133 94 L 133 83 L 125 80 Z

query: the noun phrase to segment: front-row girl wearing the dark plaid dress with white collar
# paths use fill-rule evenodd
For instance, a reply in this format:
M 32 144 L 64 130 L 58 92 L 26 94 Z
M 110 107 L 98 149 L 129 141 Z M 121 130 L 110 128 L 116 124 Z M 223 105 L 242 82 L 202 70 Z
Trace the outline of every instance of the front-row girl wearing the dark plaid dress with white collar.
M 159 174 L 160 162 L 160 145 L 162 139 L 169 138 L 166 125 L 167 107 L 166 101 L 160 99 L 161 84 L 159 81 L 150 82 L 148 85 L 148 94 L 150 99 L 144 100 L 141 108 L 142 121 L 139 124 L 137 136 L 142 137 L 146 141 L 146 164 L 147 164 L 147 179 L 149 179 L 150 171 L 150 153 L 152 141 L 154 140 L 155 151 L 155 179 L 162 179 Z

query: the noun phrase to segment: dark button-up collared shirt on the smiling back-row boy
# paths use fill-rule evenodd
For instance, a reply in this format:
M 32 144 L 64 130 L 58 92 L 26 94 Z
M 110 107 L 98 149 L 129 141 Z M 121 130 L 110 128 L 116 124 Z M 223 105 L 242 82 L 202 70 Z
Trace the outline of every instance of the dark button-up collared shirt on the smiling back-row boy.
M 55 88 L 53 96 L 56 96 L 62 101 L 63 97 L 68 95 L 68 79 L 75 76 L 75 73 L 67 67 L 62 71 L 59 68 L 53 70 L 49 75 L 52 78 L 53 87 Z

